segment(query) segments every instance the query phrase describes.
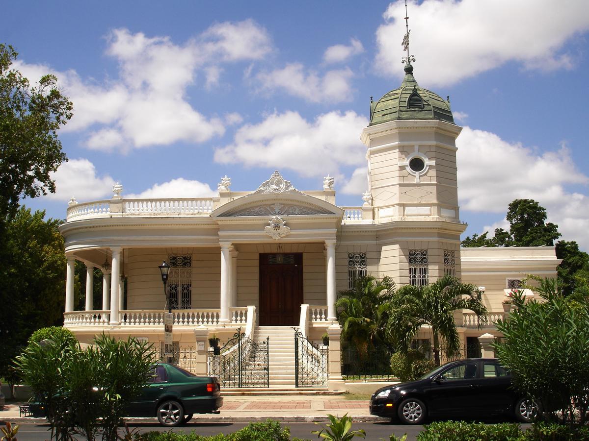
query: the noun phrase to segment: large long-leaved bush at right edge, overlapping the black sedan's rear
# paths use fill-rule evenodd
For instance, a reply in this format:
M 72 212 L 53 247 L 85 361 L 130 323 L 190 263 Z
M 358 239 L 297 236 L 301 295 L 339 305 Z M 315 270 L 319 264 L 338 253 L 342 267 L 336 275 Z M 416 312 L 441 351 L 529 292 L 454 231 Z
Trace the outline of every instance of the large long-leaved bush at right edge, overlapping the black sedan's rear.
M 554 279 L 540 280 L 536 290 L 544 301 L 516 296 L 509 319 L 497 322 L 504 339 L 495 343 L 495 353 L 543 412 L 583 425 L 589 409 L 589 305 L 560 295 Z

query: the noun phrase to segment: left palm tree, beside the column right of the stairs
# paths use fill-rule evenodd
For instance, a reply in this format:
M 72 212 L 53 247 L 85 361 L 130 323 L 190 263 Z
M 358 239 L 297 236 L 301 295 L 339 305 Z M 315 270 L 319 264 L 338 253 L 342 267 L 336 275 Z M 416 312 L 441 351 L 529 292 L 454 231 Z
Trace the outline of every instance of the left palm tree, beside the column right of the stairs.
M 335 305 L 342 338 L 352 343 L 360 356 L 367 353 L 369 345 L 384 339 L 386 320 L 379 307 L 387 305 L 394 295 L 395 282 L 391 278 L 379 281 L 373 276 L 359 278 L 353 289 L 337 293 Z

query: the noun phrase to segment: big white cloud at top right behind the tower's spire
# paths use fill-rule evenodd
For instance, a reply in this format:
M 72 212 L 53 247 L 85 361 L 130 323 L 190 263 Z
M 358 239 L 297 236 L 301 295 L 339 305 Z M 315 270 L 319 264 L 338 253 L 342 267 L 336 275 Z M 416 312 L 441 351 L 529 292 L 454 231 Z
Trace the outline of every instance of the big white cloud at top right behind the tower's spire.
M 526 69 L 570 69 L 573 57 L 563 46 L 589 29 L 586 8 L 584 1 L 560 7 L 550 0 L 411 1 L 416 78 L 426 86 L 451 85 L 510 61 Z M 376 31 L 376 65 L 383 74 L 403 74 L 404 16 L 404 2 L 393 2 Z

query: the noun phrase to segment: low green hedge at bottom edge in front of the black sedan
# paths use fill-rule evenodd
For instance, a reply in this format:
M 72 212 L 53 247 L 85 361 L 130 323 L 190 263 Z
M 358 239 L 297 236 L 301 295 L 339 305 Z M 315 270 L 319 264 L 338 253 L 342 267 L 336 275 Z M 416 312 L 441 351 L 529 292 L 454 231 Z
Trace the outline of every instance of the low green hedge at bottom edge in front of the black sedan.
M 425 426 L 418 441 L 517 441 L 522 439 L 519 425 L 514 423 L 485 424 L 464 421 L 435 422 Z

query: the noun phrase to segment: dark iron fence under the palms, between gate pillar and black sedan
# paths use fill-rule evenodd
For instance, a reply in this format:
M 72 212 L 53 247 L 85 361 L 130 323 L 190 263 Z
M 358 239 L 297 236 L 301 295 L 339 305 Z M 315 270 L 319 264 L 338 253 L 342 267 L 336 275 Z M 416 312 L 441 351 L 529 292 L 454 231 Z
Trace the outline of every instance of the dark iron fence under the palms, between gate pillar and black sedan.
M 343 348 L 342 376 L 348 380 L 392 380 L 391 355 L 386 348 Z

